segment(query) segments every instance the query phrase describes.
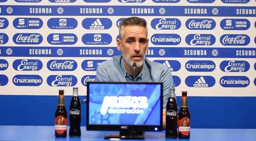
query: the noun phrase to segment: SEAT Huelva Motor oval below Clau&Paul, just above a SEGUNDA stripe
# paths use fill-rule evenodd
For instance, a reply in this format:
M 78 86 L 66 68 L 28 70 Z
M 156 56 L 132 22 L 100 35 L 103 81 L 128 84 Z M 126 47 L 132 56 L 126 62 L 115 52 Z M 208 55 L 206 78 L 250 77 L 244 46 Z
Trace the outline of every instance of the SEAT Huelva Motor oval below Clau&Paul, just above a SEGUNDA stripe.
M 73 33 L 52 33 L 47 36 L 47 41 L 51 45 L 74 45 L 77 42 L 77 36 Z

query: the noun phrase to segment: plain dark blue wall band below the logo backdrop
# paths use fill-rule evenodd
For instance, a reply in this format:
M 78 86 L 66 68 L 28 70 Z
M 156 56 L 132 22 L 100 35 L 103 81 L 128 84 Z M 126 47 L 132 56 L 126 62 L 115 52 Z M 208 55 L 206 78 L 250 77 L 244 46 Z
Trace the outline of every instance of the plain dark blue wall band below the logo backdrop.
M 70 100 L 65 96 L 67 111 Z M 180 106 L 180 96 L 177 101 Z M 255 102 L 256 97 L 189 96 L 191 128 L 256 128 Z M 57 103 L 58 96 L 0 95 L 0 125 L 54 125 Z M 86 126 L 86 104 L 81 108 L 81 125 Z

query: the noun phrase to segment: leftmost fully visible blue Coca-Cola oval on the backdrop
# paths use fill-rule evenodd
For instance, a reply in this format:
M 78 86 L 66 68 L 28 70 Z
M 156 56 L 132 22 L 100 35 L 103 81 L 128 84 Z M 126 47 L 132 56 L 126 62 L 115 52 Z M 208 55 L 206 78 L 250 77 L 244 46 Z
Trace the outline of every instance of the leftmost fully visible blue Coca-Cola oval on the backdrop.
M 13 42 L 22 45 L 38 45 L 42 43 L 43 37 L 38 33 L 17 33 L 13 36 Z

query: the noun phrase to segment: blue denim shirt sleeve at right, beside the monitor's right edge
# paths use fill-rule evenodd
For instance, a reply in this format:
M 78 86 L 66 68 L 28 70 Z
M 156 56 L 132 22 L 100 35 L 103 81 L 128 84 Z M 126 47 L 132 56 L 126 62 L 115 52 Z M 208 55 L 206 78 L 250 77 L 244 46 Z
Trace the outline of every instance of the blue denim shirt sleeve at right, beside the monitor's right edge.
M 174 82 L 173 82 L 171 71 L 169 69 L 164 70 L 162 72 L 160 80 L 161 82 L 163 82 L 163 109 L 166 109 L 166 104 L 169 98 L 169 89 L 174 88 Z M 177 103 L 176 94 L 175 94 L 175 99 Z M 177 107 L 178 107 L 178 103 L 177 103 Z

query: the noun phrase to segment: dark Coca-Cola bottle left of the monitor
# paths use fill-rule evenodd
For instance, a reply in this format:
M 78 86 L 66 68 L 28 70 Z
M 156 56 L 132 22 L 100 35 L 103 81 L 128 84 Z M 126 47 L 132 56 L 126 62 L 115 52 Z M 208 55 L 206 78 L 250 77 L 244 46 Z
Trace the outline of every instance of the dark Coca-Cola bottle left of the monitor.
M 69 112 L 69 136 L 70 137 L 80 137 L 81 136 L 81 105 L 78 96 L 78 88 L 73 88 L 73 96 L 70 102 L 70 112 Z

